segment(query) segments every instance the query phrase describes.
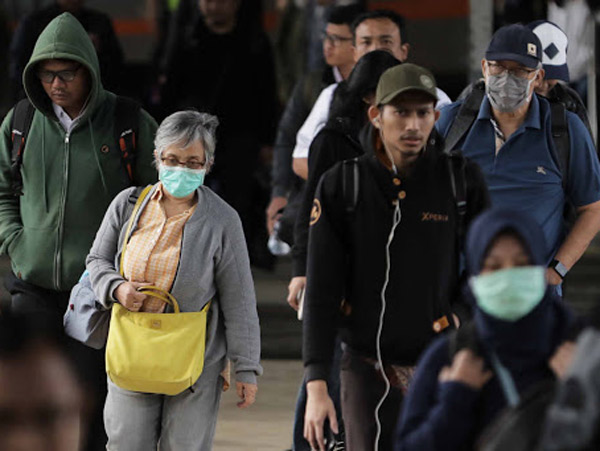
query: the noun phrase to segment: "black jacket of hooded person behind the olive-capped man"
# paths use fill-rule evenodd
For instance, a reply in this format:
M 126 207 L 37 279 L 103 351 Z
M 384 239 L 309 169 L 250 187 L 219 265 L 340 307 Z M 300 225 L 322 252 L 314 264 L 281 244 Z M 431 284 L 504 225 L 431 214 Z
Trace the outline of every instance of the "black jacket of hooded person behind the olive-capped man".
M 367 126 L 361 135 L 370 136 L 371 127 Z M 306 251 L 308 247 L 308 223 L 315 191 L 321 176 L 339 161 L 358 157 L 364 153 L 358 130 L 346 118 L 333 118 L 315 136 L 308 154 L 308 179 L 302 192 L 302 203 L 294 228 L 294 247 L 292 248 L 292 274 L 294 277 L 306 275 Z

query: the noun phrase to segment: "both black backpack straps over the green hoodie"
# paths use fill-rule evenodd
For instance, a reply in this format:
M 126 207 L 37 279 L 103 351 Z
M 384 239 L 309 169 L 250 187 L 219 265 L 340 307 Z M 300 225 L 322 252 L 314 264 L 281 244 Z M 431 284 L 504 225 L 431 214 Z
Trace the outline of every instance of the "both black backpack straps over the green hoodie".
M 115 104 L 115 142 L 121 150 L 123 167 L 127 172 L 129 182 L 133 184 L 133 163 L 135 161 L 136 136 L 138 130 L 139 103 L 127 97 L 117 96 Z M 12 190 L 15 196 L 23 195 L 23 178 L 21 166 L 23 166 L 23 152 L 25 142 L 35 108 L 28 98 L 20 100 L 14 107 L 10 124 L 12 151 L 11 151 L 11 175 Z

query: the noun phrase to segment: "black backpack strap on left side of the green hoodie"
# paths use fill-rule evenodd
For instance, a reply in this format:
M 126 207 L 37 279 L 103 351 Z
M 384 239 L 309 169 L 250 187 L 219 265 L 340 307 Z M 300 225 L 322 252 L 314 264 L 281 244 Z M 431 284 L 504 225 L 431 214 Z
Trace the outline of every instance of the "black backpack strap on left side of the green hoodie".
M 23 194 L 23 178 L 21 177 L 21 166 L 23 165 L 23 152 L 25 141 L 29 134 L 29 128 L 33 122 L 35 108 L 28 98 L 20 100 L 14 107 L 11 120 L 11 175 L 12 190 L 15 196 Z

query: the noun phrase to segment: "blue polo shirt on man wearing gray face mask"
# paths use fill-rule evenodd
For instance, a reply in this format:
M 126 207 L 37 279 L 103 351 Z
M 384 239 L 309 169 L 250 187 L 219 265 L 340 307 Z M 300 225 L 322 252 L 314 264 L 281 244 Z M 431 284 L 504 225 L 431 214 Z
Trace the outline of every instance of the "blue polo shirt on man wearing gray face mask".
M 461 104 L 455 102 L 442 109 L 436 128 L 444 137 Z M 600 200 L 600 164 L 590 134 L 577 115 L 567 112 L 571 152 L 564 192 L 556 153 L 551 150 L 554 141 L 548 101 L 533 96 L 525 122 L 497 154 L 491 118 L 490 102 L 484 96 L 473 126 L 456 148 L 481 167 L 494 206 L 528 213 L 538 221 L 550 261 L 565 237 L 563 209 L 567 197 L 576 207 Z

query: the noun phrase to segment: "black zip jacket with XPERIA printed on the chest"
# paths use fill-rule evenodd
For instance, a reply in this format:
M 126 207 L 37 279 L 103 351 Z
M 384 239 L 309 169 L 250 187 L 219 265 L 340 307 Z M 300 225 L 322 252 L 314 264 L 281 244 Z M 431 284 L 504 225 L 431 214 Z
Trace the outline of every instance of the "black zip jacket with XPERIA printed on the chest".
M 354 351 L 376 355 L 386 243 L 399 198 L 401 221 L 390 246 L 385 294 L 384 361 L 413 365 L 436 334 L 434 322 L 444 315 L 452 321 L 459 298 L 457 212 L 448 157 L 441 149 L 432 138 L 412 174 L 402 179 L 371 151 L 358 158 L 359 192 L 352 213 L 344 202 L 343 164 L 323 175 L 308 245 L 303 342 L 307 380 L 327 378 L 338 324 L 342 340 Z M 466 162 L 465 179 L 468 222 L 488 205 L 489 196 L 475 164 Z M 343 299 L 351 311 L 340 322 Z

